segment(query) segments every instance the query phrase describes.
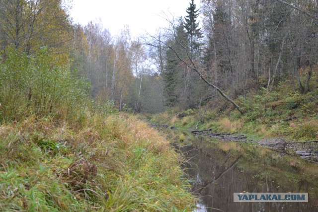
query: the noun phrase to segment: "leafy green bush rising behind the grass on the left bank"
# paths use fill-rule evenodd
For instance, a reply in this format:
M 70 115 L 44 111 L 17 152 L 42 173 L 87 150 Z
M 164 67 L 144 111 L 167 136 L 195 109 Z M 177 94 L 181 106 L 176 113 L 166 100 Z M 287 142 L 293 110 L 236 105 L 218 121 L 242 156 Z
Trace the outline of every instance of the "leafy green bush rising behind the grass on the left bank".
M 88 84 L 72 75 L 69 66 L 59 66 L 47 48 L 34 56 L 8 49 L 0 64 L 0 118 L 19 120 L 34 113 L 71 118 L 84 111 Z

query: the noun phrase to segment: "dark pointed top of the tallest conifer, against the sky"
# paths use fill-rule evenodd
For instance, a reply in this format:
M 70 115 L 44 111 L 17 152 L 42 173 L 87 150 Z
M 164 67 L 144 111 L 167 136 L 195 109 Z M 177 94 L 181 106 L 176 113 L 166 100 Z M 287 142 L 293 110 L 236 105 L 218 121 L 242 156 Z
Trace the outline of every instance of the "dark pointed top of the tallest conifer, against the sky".
M 188 42 L 191 53 L 197 52 L 202 45 L 199 42 L 199 39 L 203 36 L 200 32 L 201 28 L 199 28 L 199 22 L 197 22 L 197 18 L 199 16 L 198 11 L 198 9 L 196 10 L 196 5 L 193 0 L 191 0 L 190 6 L 186 9 L 188 15 L 184 17 L 184 28 L 188 34 Z

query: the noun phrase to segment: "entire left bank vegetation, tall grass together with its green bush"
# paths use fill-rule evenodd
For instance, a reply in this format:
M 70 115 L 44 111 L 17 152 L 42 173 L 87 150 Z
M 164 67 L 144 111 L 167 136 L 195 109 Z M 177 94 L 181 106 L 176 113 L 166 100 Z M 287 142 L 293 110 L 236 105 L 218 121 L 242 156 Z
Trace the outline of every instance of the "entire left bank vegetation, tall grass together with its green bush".
M 192 210 L 179 155 L 158 132 L 43 48 L 0 64 L 0 211 Z

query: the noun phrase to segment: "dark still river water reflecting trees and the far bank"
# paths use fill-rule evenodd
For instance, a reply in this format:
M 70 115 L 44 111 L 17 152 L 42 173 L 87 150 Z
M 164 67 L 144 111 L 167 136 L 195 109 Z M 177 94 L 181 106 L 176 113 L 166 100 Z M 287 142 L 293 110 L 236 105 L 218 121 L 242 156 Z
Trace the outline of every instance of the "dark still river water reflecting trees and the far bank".
M 177 148 L 199 195 L 197 212 L 318 212 L 317 163 L 246 143 L 186 137 Z M 309 202 L 234 203 L 235 192 L 306 192 Z

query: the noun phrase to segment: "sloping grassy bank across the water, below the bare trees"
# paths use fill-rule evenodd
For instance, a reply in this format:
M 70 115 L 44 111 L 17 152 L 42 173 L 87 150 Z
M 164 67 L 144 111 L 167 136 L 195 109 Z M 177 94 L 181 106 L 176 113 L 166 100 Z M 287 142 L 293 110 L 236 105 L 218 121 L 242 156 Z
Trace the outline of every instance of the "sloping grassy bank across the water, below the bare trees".
M 292 82 L 286 80 L 272 91 L 266 88 L 250 90 L 235 101 L 244 114 L 223 99 L 210 100 L 200 109 L 149 116 L 151 122 L 169 124 L 180 129 L 212 128 L 215 132 L 240 132 L 252 139 L 284 137 L 287 140 L 308 141 L 318 139 L 318 74 L 314 73 L 309 92 L 293 92 Z M 215 107 L 210 107 L 211 105 Z M 178 115 L 174 115 L 179 112 Z M 180 115 L 181 114 L 181 115 Z M 166 118 L 166 119 L 164 119 Z M 200 122 L 202 121 L 202 122 Z M 199 122 L 199 124 L 198 124 Z

